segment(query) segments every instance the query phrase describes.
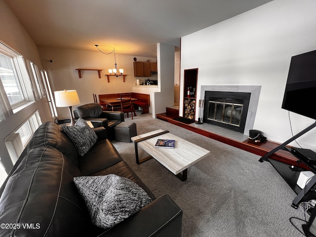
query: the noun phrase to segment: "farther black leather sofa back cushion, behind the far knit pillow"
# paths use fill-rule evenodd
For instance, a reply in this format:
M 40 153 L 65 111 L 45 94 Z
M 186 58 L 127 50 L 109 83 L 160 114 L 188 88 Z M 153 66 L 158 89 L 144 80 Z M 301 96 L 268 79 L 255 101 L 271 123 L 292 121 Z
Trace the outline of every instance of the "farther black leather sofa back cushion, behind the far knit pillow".
M 30 152 L 42 146 L 56 148 L 78 166 L 78 153 L 72 140 L 56 123 L 48 121 L 41 124 L 28 143 L 27 151 Z

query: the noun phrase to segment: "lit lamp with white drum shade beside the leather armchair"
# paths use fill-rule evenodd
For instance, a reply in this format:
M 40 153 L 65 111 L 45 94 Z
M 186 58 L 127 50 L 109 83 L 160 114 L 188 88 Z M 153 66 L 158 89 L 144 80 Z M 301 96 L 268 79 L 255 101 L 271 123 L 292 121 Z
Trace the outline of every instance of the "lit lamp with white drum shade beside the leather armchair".
M 77 90 L 54 91 L 56 107 L 68 107 L 70 113 L 70 125 L 75 125 L 75 119 L 71 107 L 80 104 Z

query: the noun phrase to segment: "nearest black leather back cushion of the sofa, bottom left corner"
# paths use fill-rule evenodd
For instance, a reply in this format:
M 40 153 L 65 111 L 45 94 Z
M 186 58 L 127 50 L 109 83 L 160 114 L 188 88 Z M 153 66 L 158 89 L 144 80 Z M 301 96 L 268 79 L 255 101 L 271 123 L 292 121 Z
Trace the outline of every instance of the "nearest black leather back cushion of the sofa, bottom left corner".
M 30 151 L 0 199 L 0 223 L 16 223 L 20 229 L 0 229 L 0 236 L 87 236 L 91 222 L 73 182 L 78 175 L 76 165 L 58 150 L 44 146 Z

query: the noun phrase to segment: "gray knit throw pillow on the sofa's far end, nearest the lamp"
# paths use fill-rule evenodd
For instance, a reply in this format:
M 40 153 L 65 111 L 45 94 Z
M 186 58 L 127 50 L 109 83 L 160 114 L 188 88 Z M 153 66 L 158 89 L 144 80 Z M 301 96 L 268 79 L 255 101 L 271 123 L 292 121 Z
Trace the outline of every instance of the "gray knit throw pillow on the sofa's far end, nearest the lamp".
M 82 118 L 78 118 L 75 126 L 63 125 L 63 130 L 73 141 L 80 156 L 86 154 L 98 140 L 97 134 Z

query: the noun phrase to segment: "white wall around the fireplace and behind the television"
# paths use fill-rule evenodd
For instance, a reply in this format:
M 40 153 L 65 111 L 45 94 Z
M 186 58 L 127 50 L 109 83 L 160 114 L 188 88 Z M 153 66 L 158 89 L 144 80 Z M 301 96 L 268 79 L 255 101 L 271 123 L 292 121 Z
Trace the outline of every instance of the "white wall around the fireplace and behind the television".
M 197 98 L 204 84 L 262 85 L 254 129 L 283 143 L 292 137 L 281 109 L 289 64 L 291 56 L 316 49 L 315 9 L 315 0 L 274 0 L 183 37 L 181 79 L 184 69 L 198 68 Z M 183 98 L 183 84 L 180 93 Z M 315 122 L 294 113 L 290 118 L 294 134 Z M 297 141 L 316 151 L 315 138 L 316 129 Z

